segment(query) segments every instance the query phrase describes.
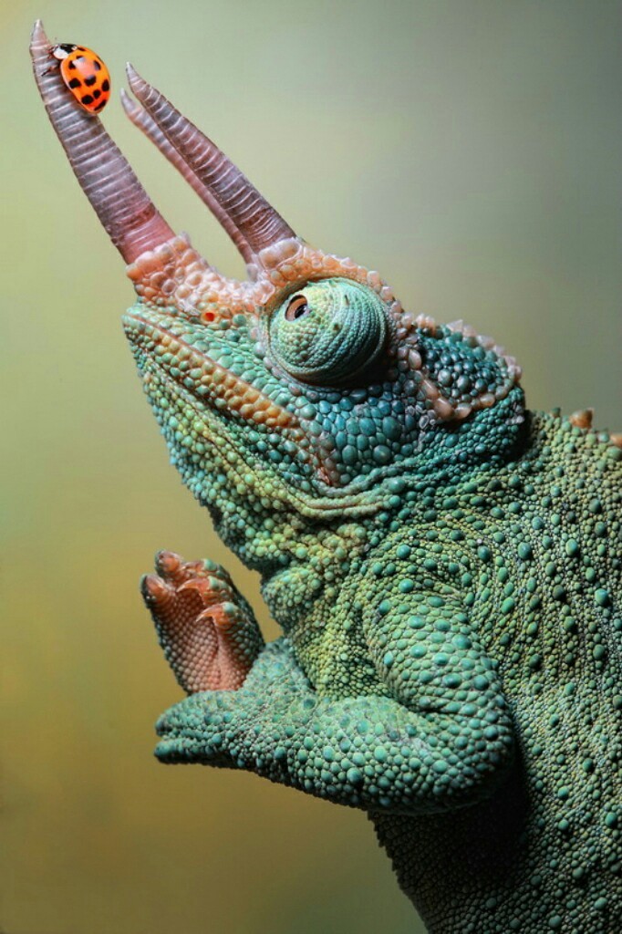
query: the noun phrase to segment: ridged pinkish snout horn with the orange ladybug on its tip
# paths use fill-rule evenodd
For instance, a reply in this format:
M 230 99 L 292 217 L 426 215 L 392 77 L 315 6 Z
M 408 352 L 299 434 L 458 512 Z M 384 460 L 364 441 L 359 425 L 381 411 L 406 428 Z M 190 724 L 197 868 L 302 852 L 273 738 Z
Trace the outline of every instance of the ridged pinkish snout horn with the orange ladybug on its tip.
M 50 67 L 51 43 L 35 22 L 30 54 L 35 81 L 49 120 L 61 140 L 82 191 L 125 262 L 175 236 L 149 200 L 120 149 L 97 117 L 66 92 L 58 70 Z

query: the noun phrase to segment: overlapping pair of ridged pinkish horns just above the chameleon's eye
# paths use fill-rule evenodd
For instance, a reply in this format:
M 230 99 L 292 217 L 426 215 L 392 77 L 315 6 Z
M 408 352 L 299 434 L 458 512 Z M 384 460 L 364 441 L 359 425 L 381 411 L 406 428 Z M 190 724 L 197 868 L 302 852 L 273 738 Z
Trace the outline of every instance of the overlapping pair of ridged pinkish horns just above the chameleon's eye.
M 257 254 L 279 240 L 295 237 L 290 225 L 262 198 L 224 152 L 183 117 L 163 94 L 140 78 L 130 64 L 127 75 L 135 96 L 183 161 L 212 192 L 253 253 Z

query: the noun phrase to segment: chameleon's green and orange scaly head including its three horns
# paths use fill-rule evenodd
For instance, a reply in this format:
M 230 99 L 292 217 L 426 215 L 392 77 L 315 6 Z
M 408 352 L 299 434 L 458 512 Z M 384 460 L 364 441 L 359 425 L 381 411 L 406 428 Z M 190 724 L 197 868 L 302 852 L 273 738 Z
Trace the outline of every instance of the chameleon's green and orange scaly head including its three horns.
M 124 327 L 149 401 L 230 545 L 267 540 L 279 510 L 356 513 L 432 464 L 494 459 L 514 443 L 520 374 L 502 348 L 461 322 L 408 313 L 377 273 L 311 248 L 128 66 L 128 116 L 247 263 L 246 281 L 219 275 L 169 227 L 100 120 L 75 106 L 49 47 L 37 22 L 49 118 L 134 283 Z

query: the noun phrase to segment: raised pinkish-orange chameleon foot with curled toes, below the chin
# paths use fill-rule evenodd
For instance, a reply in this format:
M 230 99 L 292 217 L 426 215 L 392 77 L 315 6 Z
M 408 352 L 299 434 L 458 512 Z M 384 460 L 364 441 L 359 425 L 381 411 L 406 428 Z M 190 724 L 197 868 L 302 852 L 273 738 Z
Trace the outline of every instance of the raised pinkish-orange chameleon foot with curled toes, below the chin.
M 161 551 L 155 568 L 141 590 L 178 683 L 189 694 L 236 690 L 263 647 L 247 601 L 213 561 Z

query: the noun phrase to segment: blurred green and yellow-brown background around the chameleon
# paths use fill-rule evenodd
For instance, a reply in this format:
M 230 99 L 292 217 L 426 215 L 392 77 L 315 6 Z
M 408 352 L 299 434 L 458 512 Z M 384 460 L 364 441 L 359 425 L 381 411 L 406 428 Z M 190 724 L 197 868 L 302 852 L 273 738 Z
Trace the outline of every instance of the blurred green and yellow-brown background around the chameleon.
M 621 7 L 605 0 L 21 0 L 2 7 L 2 915 L 6 934 L 414 934 L 362 814 L 164 768 L 180 692 L 136 587 L 157 548 L 224 563 L 167 464 L 120 330 L 132 291 L 35 93 L 36 16 L 131 59 L 306 239 L 465 318 L 532 407 L 622 428 Z M 225 235 L 115 99 L 177 229 Z

